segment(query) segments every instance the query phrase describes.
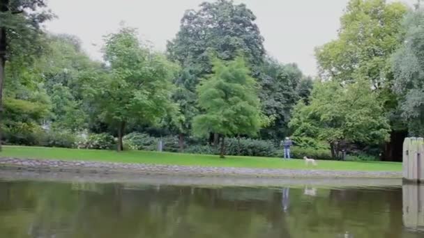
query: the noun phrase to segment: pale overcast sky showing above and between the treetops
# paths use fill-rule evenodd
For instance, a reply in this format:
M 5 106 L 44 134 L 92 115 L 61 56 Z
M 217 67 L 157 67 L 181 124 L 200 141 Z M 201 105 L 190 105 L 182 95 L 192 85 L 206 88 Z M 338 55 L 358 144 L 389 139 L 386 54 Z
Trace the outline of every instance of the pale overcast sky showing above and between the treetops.
M 47 23 L 53 33 L 77 35 L 92 58 L 101 59 L 103 35 L 119 23 L 139 29 L 140 37 L 161 51 L 179 30 L 185 10 L 204 0 L 49 0 L 58 16 Z M 402 0 L 409 4 L 416 0 Z M 257 16 L 268 54 L 282 63 L 297 63 L 315 75 L 314 48 L 337 37 L 339 18 L 348 0 L 235 0 Z M 119 4 L 118 4 L 119 3 Z

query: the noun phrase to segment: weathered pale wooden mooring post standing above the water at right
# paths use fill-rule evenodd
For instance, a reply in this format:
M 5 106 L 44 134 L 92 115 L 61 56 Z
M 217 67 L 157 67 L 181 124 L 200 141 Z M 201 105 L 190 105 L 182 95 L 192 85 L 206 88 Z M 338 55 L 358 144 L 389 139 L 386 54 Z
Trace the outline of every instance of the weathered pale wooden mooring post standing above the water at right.
M 424 182 L 424 140 L 405 138 L 403 143 L 403 178 L 409 182 Z

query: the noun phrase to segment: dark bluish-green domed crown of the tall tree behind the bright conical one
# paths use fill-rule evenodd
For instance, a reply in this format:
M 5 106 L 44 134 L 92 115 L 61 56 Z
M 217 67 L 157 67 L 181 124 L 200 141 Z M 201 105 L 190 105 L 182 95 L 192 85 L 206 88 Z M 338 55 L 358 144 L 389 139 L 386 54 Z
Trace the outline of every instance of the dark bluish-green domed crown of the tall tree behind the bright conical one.
M 167 45 L 169 58 L 184 67 L 199 68 L 199 75 L 211 72 L 209 52 L 229 61 L 243 52 L 249 63 L 262 62 L 264 38 L 255 24 L 255 15 L 245 4 L 218 0 L 204 2 L 199 10 L 187 10 L 176 38 Z

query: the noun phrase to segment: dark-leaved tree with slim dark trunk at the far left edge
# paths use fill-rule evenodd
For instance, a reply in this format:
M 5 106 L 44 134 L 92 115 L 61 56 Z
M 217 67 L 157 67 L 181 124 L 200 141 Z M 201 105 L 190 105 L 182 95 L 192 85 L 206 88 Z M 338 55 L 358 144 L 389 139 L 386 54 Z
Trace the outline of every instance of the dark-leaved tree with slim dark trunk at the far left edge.
M 0 0 L 0 119 L 6 60 L 38 51 L 40 24 L 52 17 L 45 7 L 45 0 Z

